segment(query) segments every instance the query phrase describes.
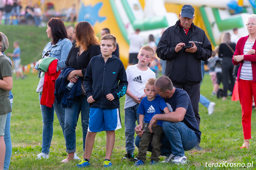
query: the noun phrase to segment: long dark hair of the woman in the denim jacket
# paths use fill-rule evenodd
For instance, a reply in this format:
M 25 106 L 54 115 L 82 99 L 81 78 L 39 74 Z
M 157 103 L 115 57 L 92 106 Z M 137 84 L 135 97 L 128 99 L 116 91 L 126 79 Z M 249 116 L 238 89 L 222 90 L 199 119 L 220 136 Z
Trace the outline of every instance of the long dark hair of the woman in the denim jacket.
M 60 39 L 68 38 L 67 30 L 64 22 L 59 18 L 51 18 L 47 22 L 48 26 L 51 27 L 53 41 L 52 44 L 57 44 Z

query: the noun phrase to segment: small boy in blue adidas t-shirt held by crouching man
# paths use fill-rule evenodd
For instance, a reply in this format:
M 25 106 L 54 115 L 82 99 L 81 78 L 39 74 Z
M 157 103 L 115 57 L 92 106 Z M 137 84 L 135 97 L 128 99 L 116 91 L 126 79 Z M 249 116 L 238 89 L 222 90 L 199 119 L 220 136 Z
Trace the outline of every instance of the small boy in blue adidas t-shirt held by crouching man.
M 159 161 L 158 157 L 161 154 L 160 148 L 162 146 L 161 137 L 163 136 L 163 121 L 158 121 L 156 126 L 152 127 L 152 133 L 149 131 L 148 125 L 155 114 L 161 114 L 163 111 L 165 113 L 169 113 L 170 111 L 164 101 L 164 98 L 156 95 L 154 86 L 155 80 L 156 79 L 154 78 L 147 80 L 144 89 L 147 97 L 142 98 L 139 109 L 137 111 L 137 113 L 140 114 L 139 125 L 137 125 L 135 129 L 143 129 L 144 133 L 139 143 L 139 154 L 137 155 L 138 161 L 135 162 L 135 166 L 144 165 L 147 149 L 151 140 L 152 154 L 150 157 L 150 165 L 157 163 L 157 161 Z

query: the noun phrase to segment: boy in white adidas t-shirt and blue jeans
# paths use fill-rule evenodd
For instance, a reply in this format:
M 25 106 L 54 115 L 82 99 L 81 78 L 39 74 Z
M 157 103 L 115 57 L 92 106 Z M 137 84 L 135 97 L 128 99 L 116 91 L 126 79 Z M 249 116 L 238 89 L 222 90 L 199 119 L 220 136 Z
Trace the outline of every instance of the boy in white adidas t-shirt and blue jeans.
M 128 88 L 125 96 L 125 148 L 126 154 L 122 160 L 129 159 L 130 161 L 137 161 L 133 155 L 134 151 L 134 129 L 136 127 L 136 120 L 139 124 L 139 114 L 137 110 L 141 99 L 146 95 L 144 87 L 148 79 L 155 78 L 155 73 L 147 67 L 153 61 L 154 50 L 150 46 L 143 46 L 139 50 L 137 58 L 138 64 L 128 66 L 126 75 L 128 80 Z

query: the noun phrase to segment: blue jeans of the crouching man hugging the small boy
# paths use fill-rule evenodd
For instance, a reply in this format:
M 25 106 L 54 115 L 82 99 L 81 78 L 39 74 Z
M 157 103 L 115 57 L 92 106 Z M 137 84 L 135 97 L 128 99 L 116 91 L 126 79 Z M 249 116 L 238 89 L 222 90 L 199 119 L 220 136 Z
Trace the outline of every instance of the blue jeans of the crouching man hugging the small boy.
M 184 156 L 185 150 L 191 150 L 197 144 L 195 132 L 188 128 L 183 122 L 163 121 L 163 135 L 161 139 L 161 155 L 167 156 L 171 153 L 175 156 Z M 136 136 L 135 144 L 139 147 L 140 137 Z M 150 144 L 148 151 L 152 151 Z

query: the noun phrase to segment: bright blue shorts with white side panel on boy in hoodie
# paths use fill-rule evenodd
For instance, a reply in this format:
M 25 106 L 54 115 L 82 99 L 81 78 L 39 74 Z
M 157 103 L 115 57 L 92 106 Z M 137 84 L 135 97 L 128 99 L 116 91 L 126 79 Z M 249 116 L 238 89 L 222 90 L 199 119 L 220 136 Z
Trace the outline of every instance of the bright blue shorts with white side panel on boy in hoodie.
M 112 131 L 121 129 L 120 110 L 103 109 L 99 107 L 90 108 L 89 132 Z

